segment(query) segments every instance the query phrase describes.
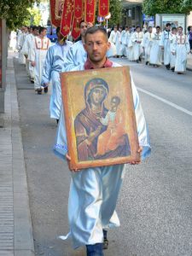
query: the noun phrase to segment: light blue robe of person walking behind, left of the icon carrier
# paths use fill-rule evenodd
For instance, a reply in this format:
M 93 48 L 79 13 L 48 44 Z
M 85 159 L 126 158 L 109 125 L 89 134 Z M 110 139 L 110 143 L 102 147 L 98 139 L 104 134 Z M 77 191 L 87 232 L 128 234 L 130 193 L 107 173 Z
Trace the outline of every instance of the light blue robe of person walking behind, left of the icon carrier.
M 41 84 L 48 84 L 50 80 L 52 81 L 52 94 L 50 96 L 49 103 L 50 118 L 52 119 L 60 119 L 60 72 L 63 70 L 67 52 L 72 44 L 72 42 L 66 41 L 66 44 L 63 45 L 55 43 L 54 45 L 50 46 L 46 55 L 46 60 L 44 62 L 44 71 Z

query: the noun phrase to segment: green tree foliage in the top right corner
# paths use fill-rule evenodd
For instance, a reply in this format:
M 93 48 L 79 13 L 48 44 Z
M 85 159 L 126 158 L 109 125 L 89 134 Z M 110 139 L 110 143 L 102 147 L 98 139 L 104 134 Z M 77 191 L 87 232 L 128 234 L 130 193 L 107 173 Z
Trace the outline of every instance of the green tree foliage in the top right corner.
M 191 0 L 144 0 L 143 13 L 156 14 L 186 14 L 192 10 Z

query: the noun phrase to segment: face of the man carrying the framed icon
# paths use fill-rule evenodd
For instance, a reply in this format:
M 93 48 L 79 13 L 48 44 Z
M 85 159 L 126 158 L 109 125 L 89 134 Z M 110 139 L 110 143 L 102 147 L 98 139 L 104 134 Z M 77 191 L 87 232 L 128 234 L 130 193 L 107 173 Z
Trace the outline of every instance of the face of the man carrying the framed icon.
M 87 34 L 84 49 L 93 63 L 100 62 L 106 58 L 106 53 L 110 48 L 108 38 L 102 32 Z

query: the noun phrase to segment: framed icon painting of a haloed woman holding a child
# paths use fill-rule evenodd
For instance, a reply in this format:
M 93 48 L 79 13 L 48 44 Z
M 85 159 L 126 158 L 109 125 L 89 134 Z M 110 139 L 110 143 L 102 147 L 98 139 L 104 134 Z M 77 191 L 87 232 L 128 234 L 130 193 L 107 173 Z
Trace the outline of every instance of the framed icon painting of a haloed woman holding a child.
M 61 73 L 70 169 L 139 160 L 129 67 Z

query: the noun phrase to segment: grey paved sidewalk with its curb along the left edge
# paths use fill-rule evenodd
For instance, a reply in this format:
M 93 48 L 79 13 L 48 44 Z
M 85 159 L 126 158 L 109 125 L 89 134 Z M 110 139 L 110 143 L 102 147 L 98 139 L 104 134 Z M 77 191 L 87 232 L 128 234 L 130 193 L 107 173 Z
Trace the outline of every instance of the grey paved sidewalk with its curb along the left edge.
M 15 88 L 14 53 L 9 53 L 4 127 L 0 128 L 0 255 L 32 256 L 34 245 Z

